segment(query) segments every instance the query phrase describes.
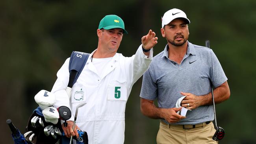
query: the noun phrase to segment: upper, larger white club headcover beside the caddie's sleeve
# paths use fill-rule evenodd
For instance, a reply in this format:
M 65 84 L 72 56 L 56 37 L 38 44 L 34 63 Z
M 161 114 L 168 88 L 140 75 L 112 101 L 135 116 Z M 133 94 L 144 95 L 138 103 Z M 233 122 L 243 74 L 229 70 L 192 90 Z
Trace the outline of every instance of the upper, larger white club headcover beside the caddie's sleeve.
M 52 92 L 48 92 L 47 90 L 40 90 L 40 92 L 35 95 L 35 102 L 39 105 L 39 107 L 45 109 L 46 107 L 55 104 L 56 97 Z

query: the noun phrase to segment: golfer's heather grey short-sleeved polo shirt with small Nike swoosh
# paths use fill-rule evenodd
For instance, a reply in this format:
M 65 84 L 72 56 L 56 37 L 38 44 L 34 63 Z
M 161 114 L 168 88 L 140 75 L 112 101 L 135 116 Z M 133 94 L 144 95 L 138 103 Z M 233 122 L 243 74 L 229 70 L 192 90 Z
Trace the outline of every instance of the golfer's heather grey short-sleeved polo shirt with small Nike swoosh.
M 141 98 L 158 100 L 158 107 L 175 107 L 182 97 L 180 92 L 197 96 L 211 92 L 223 84 L 227 78 L 210 48 L 188 42 L 187 53 L 180 65 L 168 58 L 168 44 L 160 54 L 153 57 L 149 69 L 143 75 Z M 188 111 L 186 118 L 175 124 L 199 124 L 214 119 L 213 106 L 203 105 Z M 165 121 L 166 122 L 166 121 Z M 167 123 L 167 122 L 166 122 Z

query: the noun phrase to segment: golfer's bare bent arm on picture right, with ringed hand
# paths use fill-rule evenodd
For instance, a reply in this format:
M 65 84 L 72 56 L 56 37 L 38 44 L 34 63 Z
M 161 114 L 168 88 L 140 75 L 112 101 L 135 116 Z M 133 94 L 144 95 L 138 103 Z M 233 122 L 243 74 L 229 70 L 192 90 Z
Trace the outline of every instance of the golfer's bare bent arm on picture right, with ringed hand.
M 181 102 L 182 107 L 186 107 L 187 109 L 195 109 L 201 105 L 212 105 L 212 96 L 211 92 L 202 96 L 196 96 L 191 93 L 181 92 L 182 95 L 186 96 Z M 230 90 L 228 87 L 228 82 L 225 81 L 223 84 L 221 84 L 219 87 L 216 87 L 213 90 L 214 94 L 214 102 L 221 103 L 225 100 L 228 100 L 230 97 Z M 189 103 L 189 107 L 188 104 Z

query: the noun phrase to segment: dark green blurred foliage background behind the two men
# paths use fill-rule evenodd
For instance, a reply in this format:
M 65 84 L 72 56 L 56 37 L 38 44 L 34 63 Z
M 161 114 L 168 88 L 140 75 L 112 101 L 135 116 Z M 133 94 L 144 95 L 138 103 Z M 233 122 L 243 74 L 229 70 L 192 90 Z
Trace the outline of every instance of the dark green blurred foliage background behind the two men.
M 222 144 L 255 144 L 254 89 L 256 87 L 255 0 L 2 0 L 0 4 L 0 132 L 1 144 L 13 143 L 6 119 L 25 133 L 37 107 L 34 96 L 51 90 L 56 73 L 73 50 L 92 52 L 102 17 L 119 15 L 125 22 L 118 50 L 135 53 L 149 29 L 159 37 L 154 55 L 166 40 L 161 37 L 161 16 L 171 8 L 187 13 L 189 41 L 206 39 L 228 77 L 230 99 L 216 105 L 218 125 L 226 131 Z M 126 105 L 125 144 L 155 144 L 159 121 L 140 113 L 141 80 L 135 83 Z

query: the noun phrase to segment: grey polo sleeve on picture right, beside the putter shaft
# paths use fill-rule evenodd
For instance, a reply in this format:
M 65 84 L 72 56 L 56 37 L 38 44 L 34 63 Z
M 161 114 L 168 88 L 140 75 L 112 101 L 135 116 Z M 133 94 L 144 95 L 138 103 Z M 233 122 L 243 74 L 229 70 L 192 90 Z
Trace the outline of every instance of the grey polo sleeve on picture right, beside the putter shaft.
M 219 87 L 221 84 L 227 81 L 228 78 L 226 77 L 224 70 L 221 67 L 221 63 L 212 50 L 210 51 L 210 65 L 210 78 L 213 86 Z

